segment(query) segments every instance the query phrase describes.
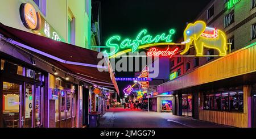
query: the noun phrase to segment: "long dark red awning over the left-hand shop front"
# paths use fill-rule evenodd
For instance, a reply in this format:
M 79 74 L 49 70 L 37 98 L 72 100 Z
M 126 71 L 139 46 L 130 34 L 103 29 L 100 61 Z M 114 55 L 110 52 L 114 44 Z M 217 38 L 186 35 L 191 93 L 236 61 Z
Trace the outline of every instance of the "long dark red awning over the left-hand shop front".
M 97 58 L 98 52 L 75 45 L 55 41 L 34 33 L 17 30 L 0 23 L 0 33 L 24 45 L 23 48 L 40 55 L 53 65 L 72 71 L 76 77 L 95 85 L 115 90 L 119 94 L 113 72 L 100 72 L 97 64 L 103 58 Z M 109 68 L 105 66 L 102 68 Z

